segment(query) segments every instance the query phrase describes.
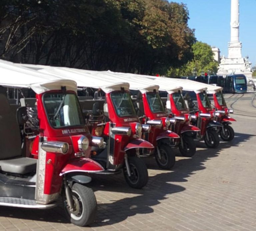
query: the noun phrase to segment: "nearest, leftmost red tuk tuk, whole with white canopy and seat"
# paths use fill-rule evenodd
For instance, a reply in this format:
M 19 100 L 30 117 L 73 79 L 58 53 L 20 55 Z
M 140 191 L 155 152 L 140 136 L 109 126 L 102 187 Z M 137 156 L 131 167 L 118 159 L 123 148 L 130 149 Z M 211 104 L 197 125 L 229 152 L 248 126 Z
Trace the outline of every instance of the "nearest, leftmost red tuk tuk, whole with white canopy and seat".
M 96 198 L 84 184 L 103 167 L 90 159 L 94 141 L 84 125 L 76 83 L 1 63 L 0 205 L 48 209 L 62 199 L 69 220 L 85 226 L 95 219 Z M 47 80 L 48 79 L 48 80 Z M 16 90 L 12 90 L 12 89 Z M 7 99 L 32 89 L 34 108 Z M 16 119 L 17 117 L 17 119 Z M 13 141 L 13 142 L 11 142 Z M 98 140 L 97 140 L 98 141 Z

